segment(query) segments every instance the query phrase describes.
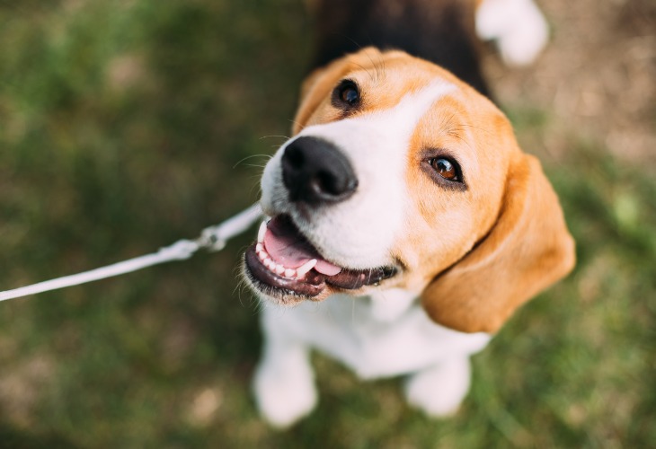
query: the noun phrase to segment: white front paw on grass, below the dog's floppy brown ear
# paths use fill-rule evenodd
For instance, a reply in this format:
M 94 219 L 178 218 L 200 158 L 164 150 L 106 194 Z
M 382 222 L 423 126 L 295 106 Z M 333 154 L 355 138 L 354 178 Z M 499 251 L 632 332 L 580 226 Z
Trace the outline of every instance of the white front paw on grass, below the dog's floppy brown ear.
M 448 360 L 419 373 L 405 383 L 405 398 L 431 418 L 456 414 L 469 391 L 469 358 Z

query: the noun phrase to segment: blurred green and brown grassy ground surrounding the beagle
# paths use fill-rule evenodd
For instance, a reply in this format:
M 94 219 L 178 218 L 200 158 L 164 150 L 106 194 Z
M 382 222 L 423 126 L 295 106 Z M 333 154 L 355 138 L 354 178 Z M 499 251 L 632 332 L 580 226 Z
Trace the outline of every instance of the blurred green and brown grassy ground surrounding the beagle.
M 253 203 L 311 57 L 305 6 L 0 1 L 0 289 L 153 251 Z M 576 7 L 549 8 L 545 58 L 557 64 Z M 608 32 L 634 42 L 640 30 Z M 579 263 L 474 357 L 455 418 L 424 418 L 398 379 L 359 383 L 316 356 L 318 409 L 287 432 L 266 427 L 249 386 L 256 308 L 236 288 L 245 235 L 217 254 L 0 304 L 0 447 L 656 445 L 653 147 L 636 155 L 620 139 L 625 157 L 595 117 L 535 94 L 535 80 L 555 84 L 539 65 L 513 75 L 487 58 L 520 142 L 562 198 Z M 652 70 L 653 48 L 640 61 Z M 652 133 L 649 104 L 632 123 Z

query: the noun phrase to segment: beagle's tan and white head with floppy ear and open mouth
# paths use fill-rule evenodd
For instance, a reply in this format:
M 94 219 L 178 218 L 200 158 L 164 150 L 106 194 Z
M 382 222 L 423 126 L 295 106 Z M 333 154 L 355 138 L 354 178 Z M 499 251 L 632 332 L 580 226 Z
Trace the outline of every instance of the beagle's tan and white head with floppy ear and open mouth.
M 404 288 L 449 328 L 493 332 L 574 263 L 563 213 L 508 119 L 454 75 L 365 48 L 303 86 L 262 176 L 271 217 L 244 271 L 279 304 Z

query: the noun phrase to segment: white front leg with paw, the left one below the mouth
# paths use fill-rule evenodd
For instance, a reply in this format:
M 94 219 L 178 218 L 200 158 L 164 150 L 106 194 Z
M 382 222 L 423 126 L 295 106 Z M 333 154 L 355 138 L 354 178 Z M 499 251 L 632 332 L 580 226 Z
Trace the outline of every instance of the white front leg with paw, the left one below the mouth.
M 315 376 L 309 348 L 289 335 L 275 320 L 275 312 L 262 313 L 264 348 L 253 379 L 253 391 L 262 417 L 274 427 L 294 424 L 315 408 Z

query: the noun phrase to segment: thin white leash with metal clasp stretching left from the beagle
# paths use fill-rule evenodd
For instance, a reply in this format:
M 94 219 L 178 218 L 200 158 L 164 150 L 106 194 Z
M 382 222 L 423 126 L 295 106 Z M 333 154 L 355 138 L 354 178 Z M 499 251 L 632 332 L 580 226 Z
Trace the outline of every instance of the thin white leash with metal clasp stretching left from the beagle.
M 100 269 L 92 269 L 90 271 L 84 271 L 84 273 L 58 277 L 57 279 L 51 279 L 31 286 L 23 286 L 0 292 L 0 302 L 21 296 L 48 292 L 49 290 L 56 290 L 66 286 L 77 286 L 106 277 L 119 276 L 131 271 L 137 271 L 137 269 L 145 269 L 146 267 L 152 267 L 153 265 L 172 260 L 187 260 L 200 249 L 220 251 L 226 246 L 228 240 L 239 233 L 243 233 L 261 216 L 262 208 L 260 208 L 259 204 L 254 204 L 236 216 L 228 218 L 220 225 L 209 226 L 203 229 L 199 238 L 196 240 L 182 239 L 152 254 L 124 260 Z

